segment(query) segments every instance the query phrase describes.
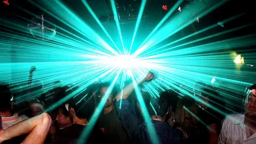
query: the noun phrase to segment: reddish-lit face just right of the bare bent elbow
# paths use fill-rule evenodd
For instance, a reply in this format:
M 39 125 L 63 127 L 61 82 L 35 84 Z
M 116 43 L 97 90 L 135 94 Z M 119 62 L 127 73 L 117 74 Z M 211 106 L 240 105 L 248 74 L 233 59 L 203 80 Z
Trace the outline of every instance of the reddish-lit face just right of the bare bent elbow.
M 67 127 L 72 123 L 65 105 L 58 108 L 58 116 L 56 117 L 56 121 L 60 124 L 60 127 Z

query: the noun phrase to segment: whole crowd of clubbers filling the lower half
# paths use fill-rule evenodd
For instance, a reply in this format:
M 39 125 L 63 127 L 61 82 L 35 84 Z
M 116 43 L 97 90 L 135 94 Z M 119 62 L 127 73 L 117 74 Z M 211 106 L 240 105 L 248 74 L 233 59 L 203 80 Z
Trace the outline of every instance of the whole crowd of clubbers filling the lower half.
M 35 83 L 35 69 L 28 85 Z M 211 86 L 202 86 L 199 97 L 170 89 L 155 98 L 140 89 L 154 79 L 149 72 L 122 90 L 93 84 L 75 97 L 77 86 L 67 89 L 60 81 L 48 92 L 40 83 L 22 95 L 1 84 L 0 143 L 256 143 L 256 84 L 244 96 L 243 113 L 227 114 Z

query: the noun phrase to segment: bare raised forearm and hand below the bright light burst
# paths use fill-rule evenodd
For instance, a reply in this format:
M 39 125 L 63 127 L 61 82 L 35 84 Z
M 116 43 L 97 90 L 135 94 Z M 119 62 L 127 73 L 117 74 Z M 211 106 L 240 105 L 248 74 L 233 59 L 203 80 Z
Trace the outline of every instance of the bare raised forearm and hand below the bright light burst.
M 144 82 L 151 81 L 152 79 L 154 79 L 154 74 L 149 71 L 147 76 L 144 79 L 142 79 L 142 81 L 135 81 L 135 84 L 140 85 Z M 134 86 L 132 82 L 124 88 L 122 98 L 127 99 L 133 91 L 134 91 Z M 119 92 L 116 95 L 116 101 L 119 101 L 121 99 L 121 96 L 122 96 L 122 92 Z

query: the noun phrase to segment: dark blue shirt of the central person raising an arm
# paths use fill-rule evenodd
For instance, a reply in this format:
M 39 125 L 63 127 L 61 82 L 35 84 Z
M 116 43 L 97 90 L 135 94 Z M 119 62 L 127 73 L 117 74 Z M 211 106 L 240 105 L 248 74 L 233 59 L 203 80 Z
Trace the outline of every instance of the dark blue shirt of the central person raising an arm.
M 121 100 L 116 102 L 119 106 Z M 126 99 L 122 99 L 122 107 L 117 107 L 121 122 L 134 143 L 152 143 L 150 140 L 149 129 L 145 122 L 141 122 L 134 114 L 130 103 Z M 155 134 L 160 143 L 185 143 L 183 133 L 172 127 L 166 122 L 152 121 L 155 128 Z M 154 143 L 155 144 L 155 143 Z

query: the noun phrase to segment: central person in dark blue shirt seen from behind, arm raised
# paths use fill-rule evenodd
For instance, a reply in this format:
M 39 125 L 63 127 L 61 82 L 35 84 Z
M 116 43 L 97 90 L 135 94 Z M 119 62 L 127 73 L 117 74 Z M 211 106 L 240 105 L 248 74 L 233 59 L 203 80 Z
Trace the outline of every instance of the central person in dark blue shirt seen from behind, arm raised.
M 134 114 L 130 102 L 127 100 L 134 90 L 134 85 L 140 85 L 155 78 L 154 74 L 149 71 L 142 81 L 135 81 L 135 84 L 134 82 L 130 83 L 116 95 L 117 111 L 122 119 L 124 129 L 134 143 L 185 143 L 182 133 L 165 122 L 169 108 L 164 99 L 155 99 L 145 103 L 141 94 L 138 95 L 141 114 L 145 118 L 145 122 L 140 121 Z

